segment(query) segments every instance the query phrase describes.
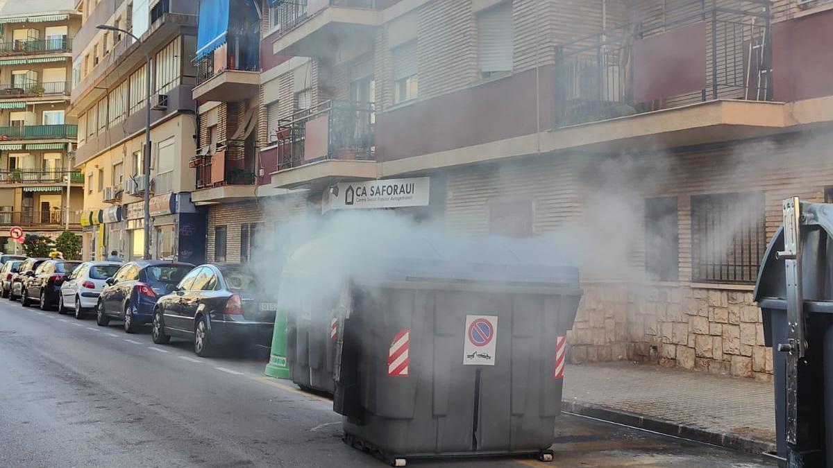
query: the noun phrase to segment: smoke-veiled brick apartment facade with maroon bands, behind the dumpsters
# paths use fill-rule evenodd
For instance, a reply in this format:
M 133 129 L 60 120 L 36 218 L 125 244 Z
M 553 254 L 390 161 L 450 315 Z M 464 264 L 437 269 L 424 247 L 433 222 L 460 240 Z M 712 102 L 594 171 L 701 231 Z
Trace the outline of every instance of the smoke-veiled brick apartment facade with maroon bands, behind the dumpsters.
M 227 201 L 209 200 L 209 259 L 407 179 L 430 193 L 416 219 L 572 254 L 573 361 L 771 379 L 751 290 L 781 199 L 833 200 L 833 2 L 260 7 L 255 182 L 206 190 Z

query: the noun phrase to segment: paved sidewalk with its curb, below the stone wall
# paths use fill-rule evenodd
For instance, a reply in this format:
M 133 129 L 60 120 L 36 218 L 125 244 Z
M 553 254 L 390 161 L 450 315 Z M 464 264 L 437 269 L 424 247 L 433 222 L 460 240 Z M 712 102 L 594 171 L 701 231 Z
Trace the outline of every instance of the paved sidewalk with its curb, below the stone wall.
M 761 453 L 775 450 L 772 384 L 620 361 L 567 365 L 563 410 Z

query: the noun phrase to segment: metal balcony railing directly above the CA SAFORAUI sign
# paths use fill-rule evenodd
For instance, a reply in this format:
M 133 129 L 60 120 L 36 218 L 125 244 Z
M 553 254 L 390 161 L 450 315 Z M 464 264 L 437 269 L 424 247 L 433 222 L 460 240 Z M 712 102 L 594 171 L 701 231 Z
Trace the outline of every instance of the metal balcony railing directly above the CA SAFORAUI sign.
M 326 101 L 296 112 L 278 121 L 277 169 L 325 159 L 373 160 L 375 122 L 371 102 Z

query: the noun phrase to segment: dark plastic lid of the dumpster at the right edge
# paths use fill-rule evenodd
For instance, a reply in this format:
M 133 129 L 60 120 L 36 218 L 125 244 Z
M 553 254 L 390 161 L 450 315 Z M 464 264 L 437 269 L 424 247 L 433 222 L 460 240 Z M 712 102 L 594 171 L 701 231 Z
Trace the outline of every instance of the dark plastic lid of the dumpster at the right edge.
M 817 226 L 826 236 L 804 234 L 801 256 L 802 294 L 807 301 L 833 301 L 833 204 L 801 202 L 803 225 Z M 766 246 L 766 253 L 758 270 L 753 296 L 755 301 L 786 298 L 784 261 L 776 259 L 776 252 L 784 250 L 784 227 L 781 226 Z M 786 308 L 786 305 L 784 306 Z

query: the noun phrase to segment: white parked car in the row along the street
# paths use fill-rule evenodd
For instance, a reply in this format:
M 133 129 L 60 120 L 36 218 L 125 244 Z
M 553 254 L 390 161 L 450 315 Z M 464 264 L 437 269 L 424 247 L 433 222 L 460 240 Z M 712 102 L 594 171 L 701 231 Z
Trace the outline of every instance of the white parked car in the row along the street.
M 87 311 L 95 308 L 98 296 L 107 278 L 122 267 L 118 261 L 85 261 L 63 282 L 57 311 L 62 314 L 75 312 L 75 318 L 82 320 Z

